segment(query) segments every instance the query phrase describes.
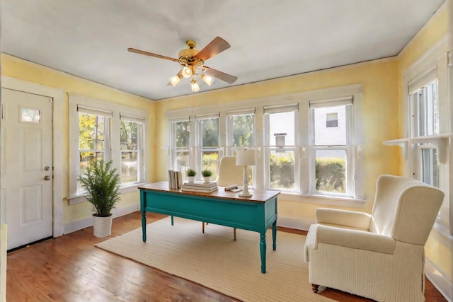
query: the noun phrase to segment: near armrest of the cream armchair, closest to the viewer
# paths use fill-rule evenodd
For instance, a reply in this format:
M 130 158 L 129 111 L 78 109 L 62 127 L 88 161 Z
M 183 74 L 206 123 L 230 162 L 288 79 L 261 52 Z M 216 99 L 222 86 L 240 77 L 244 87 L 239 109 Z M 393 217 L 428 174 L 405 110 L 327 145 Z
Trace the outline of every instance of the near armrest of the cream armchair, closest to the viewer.
M 389 236 L 312 224 L 306 236 L 306 248 L 316 250 L 319 243 L 384 254 L 393 254 L 396 247 L 396 241 Z

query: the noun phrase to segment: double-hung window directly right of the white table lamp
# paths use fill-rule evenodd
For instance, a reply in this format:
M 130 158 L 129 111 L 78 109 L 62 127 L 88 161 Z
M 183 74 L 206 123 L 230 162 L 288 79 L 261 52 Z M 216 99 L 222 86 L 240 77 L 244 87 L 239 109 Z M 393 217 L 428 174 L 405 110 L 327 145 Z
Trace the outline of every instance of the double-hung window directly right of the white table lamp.
M 296 156 L 298 104 L 265 106 L 265 187 L 270 190 L 295 191 L 299 162 Z

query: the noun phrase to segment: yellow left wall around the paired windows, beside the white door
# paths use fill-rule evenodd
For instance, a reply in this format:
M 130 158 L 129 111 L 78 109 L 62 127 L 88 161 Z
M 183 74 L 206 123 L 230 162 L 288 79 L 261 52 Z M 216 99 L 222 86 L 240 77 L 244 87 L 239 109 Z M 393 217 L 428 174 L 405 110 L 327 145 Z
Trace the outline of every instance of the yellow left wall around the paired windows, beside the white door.
M 38 83 L 43 86 L 52 88 L 58 88 L 65 93 L 77 93 L 79 95 L 85 95 L 90 98 L 96 98 L 99 100 L 106 100 L 108 102 L 117 103 L 120 105 L 127 105 L 133 108 L 147 110 L 149 112 L 149 127 L 145 130 L 149 134 L 149 140 L 147 141 L 147 148 L 151 150 L 149 156 L 153 156 L 154 150 L 154 102 L 141 98 L 137 95 L 131 95 L 124 93 L 107 86 L 100 85 L 91 81 L 77 78 L 69 74 L 64 74 L 53 69 L 33 64 L 16 57 L 11 57 L 8 54 L 1 54 L 1 74 L 3 76 L 9 76 L 11 78 L 21 79 L 31 83 Z M 69 134 L 69 103 L 68 95 L 66 94 L 64 100 L 64 116 L 62 119 L 66 122 L 64 128 L 60 129 L 63 133 Z M 62 167 L 64 171 L 64 182 L 63 192 L 69 194 L 69 135 L 63 136 L 65 141 L 62 144 L 64 146 L 62 150 L 64 163 L 66 166 Z M 150 165 L 151 166 L 151 165 Z M 150 168 L 150 167 L 147 167 Z M 151 175 L 151 180 L 152 175 Z M 91 206 L 88 202 L 80 204 L 69 205 L 67 200 L 62 201 L 64 203 L 63 222 L 65 224 L 78 221 L 80 219 L 86 219 L 91 216 Z M 137 204 L 139 202 L 139 193 L 131 192 L 121 194 L 121 201 L 117 204 L 117 208 L 125 207 L 130 204 Z

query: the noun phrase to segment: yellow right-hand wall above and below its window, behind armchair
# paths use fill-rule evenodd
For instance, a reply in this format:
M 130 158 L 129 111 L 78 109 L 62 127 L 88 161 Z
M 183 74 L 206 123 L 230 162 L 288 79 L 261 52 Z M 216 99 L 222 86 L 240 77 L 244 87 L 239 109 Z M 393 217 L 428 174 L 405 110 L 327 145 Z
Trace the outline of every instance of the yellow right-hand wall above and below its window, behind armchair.
M 451 4 L 444 6 L 437 11 L 434 18 L 420 30 L 418 35 L 406 46 L 406 49 L 398 57 L 398 79 L 403 82 L 403 73 L 411 64 L 416 62 L 431 47 L 436 45 L 447 33 L 452 34 L 449 28 L 452 22 Z M 403 93 L 403 91 L 401 92 Z M 404 102 L 404 95 L 400 97 L 400 103 Z M 451 101 L 451 100 L 450 100 Z M 402 104 L 401 104 L 402 105 Z M 401 131 L 402 132 L 402 131 Z M 451 159 L 450 159 L 451 161 Z M 451 165 L 452 163 L 450 163 Z M 452 175 L 450 175 L 452 177 Z M 448 197 L 447 197 L 448 198 Z M 430 238 L 425 245 L 425 253 L 428 259 L 442 272 L 450 281 L 453 281 L 453 244 L 448 240 L 442 240 L 442 235 L 432 231 Z

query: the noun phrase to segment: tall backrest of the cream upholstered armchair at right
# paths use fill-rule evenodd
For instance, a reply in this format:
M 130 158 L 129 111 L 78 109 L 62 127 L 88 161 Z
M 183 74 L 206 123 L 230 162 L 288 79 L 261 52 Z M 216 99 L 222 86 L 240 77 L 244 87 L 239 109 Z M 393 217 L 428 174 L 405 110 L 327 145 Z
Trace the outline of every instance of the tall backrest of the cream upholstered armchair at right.
M 377 180 L 370 231 L 425 245 L 444 193 L 419 180 L 381 175 Z

